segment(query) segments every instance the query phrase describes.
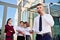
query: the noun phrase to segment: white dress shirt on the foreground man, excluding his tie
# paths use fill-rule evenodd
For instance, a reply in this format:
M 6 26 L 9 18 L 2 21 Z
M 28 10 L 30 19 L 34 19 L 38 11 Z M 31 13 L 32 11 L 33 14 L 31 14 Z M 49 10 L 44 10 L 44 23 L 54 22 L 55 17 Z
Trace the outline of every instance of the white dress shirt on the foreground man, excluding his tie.
M 54 20 L 52 16 L 50 14 L 44 14 L 42 16 L 42 31 L 39 31 L 39 17 L 40 15 L 38 15 L 34 19 L 33 31 L 36 34 L 44 34 L 44 33 L 51 32 L 51 27 L 53 27 L 54 25 Z

